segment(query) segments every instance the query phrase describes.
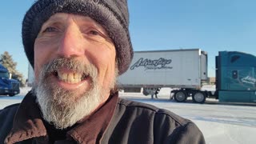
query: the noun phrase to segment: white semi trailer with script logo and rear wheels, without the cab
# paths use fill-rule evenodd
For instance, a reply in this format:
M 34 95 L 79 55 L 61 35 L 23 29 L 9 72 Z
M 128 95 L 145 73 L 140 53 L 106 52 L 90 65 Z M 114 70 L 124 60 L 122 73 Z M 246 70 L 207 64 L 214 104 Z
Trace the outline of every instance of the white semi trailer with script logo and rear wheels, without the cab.
M 192 96 L 203 103 L 208 92 L 201 91 L 207 80 L 207 54 L 200 49 L 135 51 L 129 70 L 118 78 L 118 85 L 126 91 L 153 95 L 158 88 L 176 88 L 177 102 Z

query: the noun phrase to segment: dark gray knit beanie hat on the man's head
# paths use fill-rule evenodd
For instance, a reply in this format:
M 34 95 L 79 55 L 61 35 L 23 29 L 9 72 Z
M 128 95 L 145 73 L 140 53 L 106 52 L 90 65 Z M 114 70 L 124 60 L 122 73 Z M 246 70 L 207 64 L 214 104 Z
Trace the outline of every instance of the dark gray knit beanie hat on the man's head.
M 98 22 L 114 42 L 118 74 L 130 66 L 133 48 L 130 42 L 129 14 L 126 0 L 38 0 L 26 12 L 22 22 L 22 42 L 34 68 L 34 41 L 44 22 L 56 13 L 80 14 Z

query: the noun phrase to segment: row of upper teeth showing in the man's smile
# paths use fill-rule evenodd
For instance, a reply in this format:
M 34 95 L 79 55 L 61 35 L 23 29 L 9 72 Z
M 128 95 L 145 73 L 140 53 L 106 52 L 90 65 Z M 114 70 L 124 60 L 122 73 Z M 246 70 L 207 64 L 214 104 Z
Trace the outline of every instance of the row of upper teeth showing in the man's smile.
M 58 78 L 63 82 L 78 83 L 78 82 L 81 82 L 82 74 L 58 72 Z

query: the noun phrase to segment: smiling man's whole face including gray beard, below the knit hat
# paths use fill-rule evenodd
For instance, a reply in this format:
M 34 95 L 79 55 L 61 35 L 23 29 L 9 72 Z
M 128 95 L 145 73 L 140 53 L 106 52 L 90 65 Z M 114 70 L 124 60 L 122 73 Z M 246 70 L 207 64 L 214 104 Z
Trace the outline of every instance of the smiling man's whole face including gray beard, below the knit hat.
M 82 115 L 85 110 L 73 109 L 83 107 L 88 109 L 88 115 L 106 102 L 117 74 L 115 56 L 114 44 L 106 30 L 93 19 L 63 13 L 51 16 L 34 42 L 34 89 L 44 118 L 58 111 L 63 113 L 59 118 L 66 118 L 66 113 L 71 111 L 81 113 L 79 118 L 74 118 L 78 121 L 85 116 Z M 84 98 L 87 99 L 82 102 Z M 65 128 L 72 123 L 61 125 L 57 127 Z

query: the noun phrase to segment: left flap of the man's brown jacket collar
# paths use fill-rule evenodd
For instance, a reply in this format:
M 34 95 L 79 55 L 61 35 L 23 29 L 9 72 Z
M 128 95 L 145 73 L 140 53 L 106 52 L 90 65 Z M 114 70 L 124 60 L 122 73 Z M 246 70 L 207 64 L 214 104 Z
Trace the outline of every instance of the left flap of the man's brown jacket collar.
M 35 99 L 32 92 L 29 92 L 22 100 L 14 118 L 13 128 L 6 137 L 6 143 L 46 136 L 46 127 L 43 125 L 41 112 Z

